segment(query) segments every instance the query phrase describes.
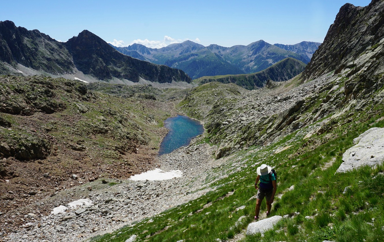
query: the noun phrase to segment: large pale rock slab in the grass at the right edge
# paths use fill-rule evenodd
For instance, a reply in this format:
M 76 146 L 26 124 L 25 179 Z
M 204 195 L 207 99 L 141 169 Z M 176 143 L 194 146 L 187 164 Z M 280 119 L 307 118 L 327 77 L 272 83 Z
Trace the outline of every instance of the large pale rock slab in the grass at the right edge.
M 353 140 L 355 146 L 343 154 L 336 172 L 347 172 L 360 166 L 374 167 L 384 160 L 384 128 L 371 128 Z

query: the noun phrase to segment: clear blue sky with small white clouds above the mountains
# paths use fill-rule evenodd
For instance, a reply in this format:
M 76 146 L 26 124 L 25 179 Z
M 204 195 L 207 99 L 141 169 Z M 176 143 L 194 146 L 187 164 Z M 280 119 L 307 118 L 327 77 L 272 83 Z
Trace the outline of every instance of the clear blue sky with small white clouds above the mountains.
M 107 42 L 156 48 L 192 40 L 204 46 L 257 40 L 322 42 L 346 0 L 3 1 L 0 20 L 38 29 L 60 41 L 84 29 Z M 371 1 L 350 0 L 355 6 Z

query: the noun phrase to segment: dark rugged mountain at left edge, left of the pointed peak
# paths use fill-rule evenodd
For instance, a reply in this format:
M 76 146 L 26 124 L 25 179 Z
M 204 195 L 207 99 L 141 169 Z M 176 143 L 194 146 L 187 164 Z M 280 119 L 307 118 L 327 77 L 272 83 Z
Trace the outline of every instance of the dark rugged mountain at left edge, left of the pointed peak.
M 74 71 L 72 56 L 63 43 L 38 30 L 16 27 L 11 21 L 0 22 L 0 61 L 52 74 Z

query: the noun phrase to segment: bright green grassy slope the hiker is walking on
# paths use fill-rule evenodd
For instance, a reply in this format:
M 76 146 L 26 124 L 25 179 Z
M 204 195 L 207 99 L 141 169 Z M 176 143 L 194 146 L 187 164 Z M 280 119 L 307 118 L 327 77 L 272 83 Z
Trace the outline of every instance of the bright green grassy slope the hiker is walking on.
M 382 88 L 376 94 L 380 91 Z M 371 127 L 384 127 L 384 121 L 376 121 L 382 116 L 383 104 L 369 103 L 350 119 L 346 114 L 338 117 L 336 124 L 339 125 L 334 125 L 321 135 L 314 134 L 310 139 L 303 140 L 306 134 L 303 130 L 291 133 L 263 149 L 253 146 L 248 151 L 238 151 L 233 154 L 233 160 L 240 160 L 247 167 L 212 184 L 215 191 L 153 217 L 151 224 L 147 224 L 148 218 L 94 240 L 124 241 L 132 234 L 147 241 L 214 241 L 217 238 L 232 238 L 252 222 L 255 201 L 248 201 L 256 193 L 253 187 L 256 167 L 252 167 L 252 164 L 262 162 L 276 167 L 278 194 L 295 185 L 293 191 L 287 191 L 281 199 L 275 199 L 272 215 L 300 212 L 294 218 L 281 220 L 275 230 L 265 234 L 263 241 L 381 241 L 384 239 L 384 176 L 372 177 L 382 172 L 383 167 L 362 167 L 336 175 L 334 172 L 342 162 L 344 151 L 353 146 L 353 138 Z M 288 145 L 293 146 L 274 153 L 277 148 Z M 333 162 L 333 165 L 321 169 L 328 162 Z M 222 169 L 218 171 L 220 174 L 228 172 L 230 164 L 218 169 Z M 347 186 L 352 189 L 343 194 Z M 204 208 L 206 204 L 212 205 Z M 245 209 L 235 212 L 242 205 L 246 206 Z M 263 211 L 265 203 L 262 205 Z M 235 226 L 243 215 L 246 216 L 243 223 Z M 314 219 L 306 219 L 305 216 L 314 216 Z M 247 236 L 243 241 L 260 239 L 259 234 Z

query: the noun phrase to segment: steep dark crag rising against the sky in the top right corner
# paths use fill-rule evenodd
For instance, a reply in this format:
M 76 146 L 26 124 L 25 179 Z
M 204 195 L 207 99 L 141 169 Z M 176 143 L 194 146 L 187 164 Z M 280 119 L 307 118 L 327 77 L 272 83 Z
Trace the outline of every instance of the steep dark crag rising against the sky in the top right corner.
M 338 74 L 345 68 L 353 67 L 354 60 L 367 49 L 374 48 L 383 38 L 383 24 L 383 1 L 373 0 L 367 7 L 346 3 L 340 8 L 303 76 L 309 80 L 329 71 L 335 70 L 335 74 Z M 377 65 L 374 69 L 377 69 Z

